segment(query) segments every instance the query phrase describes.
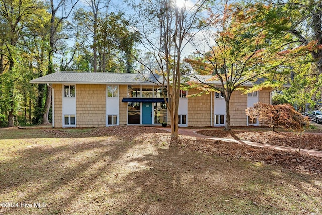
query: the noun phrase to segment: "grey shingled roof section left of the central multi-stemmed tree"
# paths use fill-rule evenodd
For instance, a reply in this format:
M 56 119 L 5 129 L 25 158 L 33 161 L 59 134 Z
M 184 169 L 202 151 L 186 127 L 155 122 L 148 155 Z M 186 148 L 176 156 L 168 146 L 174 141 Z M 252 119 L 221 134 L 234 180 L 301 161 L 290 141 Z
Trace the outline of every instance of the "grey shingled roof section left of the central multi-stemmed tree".
M 151 84 L 162 76 L 140 73 L 77 73 L 57 71 L 46 76 L 33 79 L 36 84 Z

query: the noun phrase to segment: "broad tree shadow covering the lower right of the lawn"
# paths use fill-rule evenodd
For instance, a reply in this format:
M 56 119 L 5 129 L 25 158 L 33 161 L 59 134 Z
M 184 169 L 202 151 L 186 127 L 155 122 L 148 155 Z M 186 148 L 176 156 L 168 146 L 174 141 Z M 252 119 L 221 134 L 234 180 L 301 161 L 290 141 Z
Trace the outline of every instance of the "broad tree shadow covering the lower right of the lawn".
M 299 214 L 302 208 L 322 211 L 321 181 L 316 185 L 308 175 L 282 172 L 275 166 L 176 147 L 160 149 L 156 157 L 133 161 L 144 162 L 150 168 L 125 178 L 132 183 L 126 183 L 124 192 L 139 192 L 129 192 L 132 198 L 124 199 L 117 214 Z M 309 202 L 307 193 L 313 197 Z

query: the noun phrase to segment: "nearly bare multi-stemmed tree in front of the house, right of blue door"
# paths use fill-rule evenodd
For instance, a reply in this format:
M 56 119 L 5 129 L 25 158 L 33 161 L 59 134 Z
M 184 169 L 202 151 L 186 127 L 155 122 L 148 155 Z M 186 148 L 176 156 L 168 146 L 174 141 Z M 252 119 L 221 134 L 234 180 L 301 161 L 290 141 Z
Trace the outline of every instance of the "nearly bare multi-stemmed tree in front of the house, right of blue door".
M 135 16 L 138 18 L 136 28 L 141 33 L 142 50 L 154 59 L 157 68 L 155 69 L 155 65 L 150 66 L 144 58 L 134 57 L 144 70 L 155 77 L 162 76 L 156 84 L 167 89 L 167 95 L 163 92 L 163 96 L 169 98 L 169 101 L 165 99 L 165 103 L 171 121 L 172 141 L 178 139 L 182 55 L 191 36 L 199 31 L 195 27 L 205 1 L 198 0 L 194 5 L 178 3 L 179 1 L 176 3 L 173 0 L 151 0 L 134 4 Z

